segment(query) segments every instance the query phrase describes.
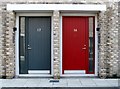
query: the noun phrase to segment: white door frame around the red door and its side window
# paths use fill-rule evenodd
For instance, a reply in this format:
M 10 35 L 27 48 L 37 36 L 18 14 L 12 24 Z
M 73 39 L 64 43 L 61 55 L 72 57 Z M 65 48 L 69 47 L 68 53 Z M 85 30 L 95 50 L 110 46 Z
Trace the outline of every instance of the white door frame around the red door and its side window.
M 95 74 L 62 74 L 62 16 L 95 16 Z M 60 76 L 98 76 L 98 32 L 97 28 L 97 14 L 82 14 L 82 13 L 61 13 L 60 14 Z

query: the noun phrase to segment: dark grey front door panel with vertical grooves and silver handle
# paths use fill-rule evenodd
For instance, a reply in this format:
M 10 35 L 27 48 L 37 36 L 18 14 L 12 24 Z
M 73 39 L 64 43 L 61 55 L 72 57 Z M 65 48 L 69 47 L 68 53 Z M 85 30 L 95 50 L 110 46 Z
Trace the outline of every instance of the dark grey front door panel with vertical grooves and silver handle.
M 26 22 L 28 70 L 50 70 L 51 17 L 28 17 Z

